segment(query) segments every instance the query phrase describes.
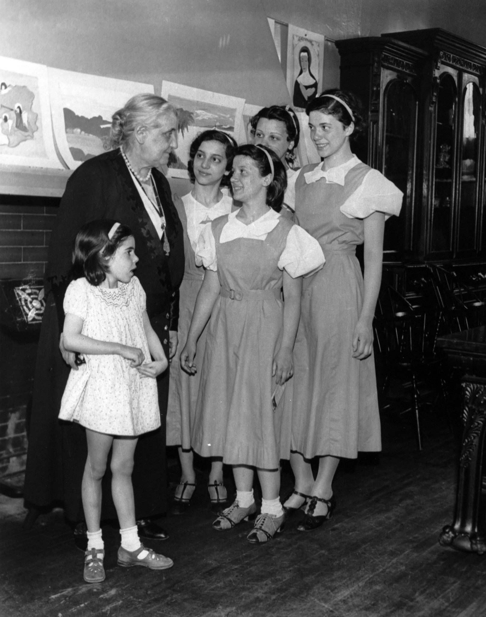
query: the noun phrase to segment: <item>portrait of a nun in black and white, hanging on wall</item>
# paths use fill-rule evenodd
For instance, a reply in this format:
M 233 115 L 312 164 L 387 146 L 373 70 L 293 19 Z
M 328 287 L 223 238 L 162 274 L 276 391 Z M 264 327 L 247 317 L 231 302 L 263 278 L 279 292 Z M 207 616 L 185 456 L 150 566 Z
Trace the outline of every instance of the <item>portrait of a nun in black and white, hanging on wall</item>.
M 305 110 L 322 91 L 324 36 L 289 24 L 287 87 L 293 107 Z

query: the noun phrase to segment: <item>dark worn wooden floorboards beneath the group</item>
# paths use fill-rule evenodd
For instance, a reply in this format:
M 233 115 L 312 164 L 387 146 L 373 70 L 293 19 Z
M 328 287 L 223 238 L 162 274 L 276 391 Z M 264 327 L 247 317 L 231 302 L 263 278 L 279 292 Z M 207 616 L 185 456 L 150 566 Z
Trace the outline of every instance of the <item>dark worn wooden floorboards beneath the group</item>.
M 0 615 L 10 616 L 405 616 L 486 615 L 486 557 L 441 547 L 452 522 L 455 445 L 435 415 L 424 419 L 424 450 L 401 417 L 383 418 L 384 451 L 341 465 L 333 519 L 311 533 L 299 515 L 269 544 L 246 542 L 250 526 L 216 532 L 206 474 L 196 503 L 161 523 L 165 542 L 148 542 L 174 568 L 156 573 L 116 565 L 119 535 L 103 528 L 107 578 L 83 581 L 83 555 L 62 511 L 23 531 L 15 500 L 0 503 Z M 179 473 L 172 459 L 172 480 Z M 230 476 L 228 478 L 230 482 Z M 283 473 L 282 492 L 292 485 Z

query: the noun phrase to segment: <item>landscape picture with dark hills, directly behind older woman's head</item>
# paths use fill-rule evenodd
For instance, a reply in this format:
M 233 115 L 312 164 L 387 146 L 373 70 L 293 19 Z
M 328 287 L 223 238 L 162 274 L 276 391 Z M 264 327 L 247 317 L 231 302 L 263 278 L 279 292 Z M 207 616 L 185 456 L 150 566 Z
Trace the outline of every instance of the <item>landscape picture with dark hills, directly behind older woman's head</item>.
M 47 68 L 52 125 L 60 155 L 70 169 L 108 149 L 111 116 L 134 94 L 153 85 Z

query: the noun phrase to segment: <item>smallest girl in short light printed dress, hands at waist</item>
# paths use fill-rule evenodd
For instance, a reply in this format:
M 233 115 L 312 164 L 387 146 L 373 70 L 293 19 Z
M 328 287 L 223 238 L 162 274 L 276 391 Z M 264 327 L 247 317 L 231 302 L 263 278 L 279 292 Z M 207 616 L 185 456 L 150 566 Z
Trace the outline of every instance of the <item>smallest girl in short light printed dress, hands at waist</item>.
M 100 582 L 104 545 L 101 482 L 111 451 L 111 494 L 120 525 L 118 564 L 170 568 L 172 560 L 140 544 L 132 469 L 137 436 L 160 426 L 156 376 L 168 366 L 134 276 L 138 257 L 130 228 L 114 220 L 87 223 L 76 236 L 73 280 L 65 294 L 64 346 L 82 354 L 71 370 L 59 418 L 86 428 L 81 486 L 87 525 L 84 580 Z M 152 355 L 153 360 L 150 359 Z

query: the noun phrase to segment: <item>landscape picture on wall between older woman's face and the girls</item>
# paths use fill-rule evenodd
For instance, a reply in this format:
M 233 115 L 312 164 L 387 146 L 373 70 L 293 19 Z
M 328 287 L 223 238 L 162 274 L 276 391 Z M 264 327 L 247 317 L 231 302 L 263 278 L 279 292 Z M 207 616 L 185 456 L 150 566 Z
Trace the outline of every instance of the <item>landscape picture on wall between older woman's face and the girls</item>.
M 171 81 L 162 82 L 162 96 L 176 107 L 179 120 L 178 146 L 169 158 L 169 177 L 189 177 L 189 148 L 198 133 L 217 128 L 237 141 L 240 138 L 245 99 L 182 86 Z

